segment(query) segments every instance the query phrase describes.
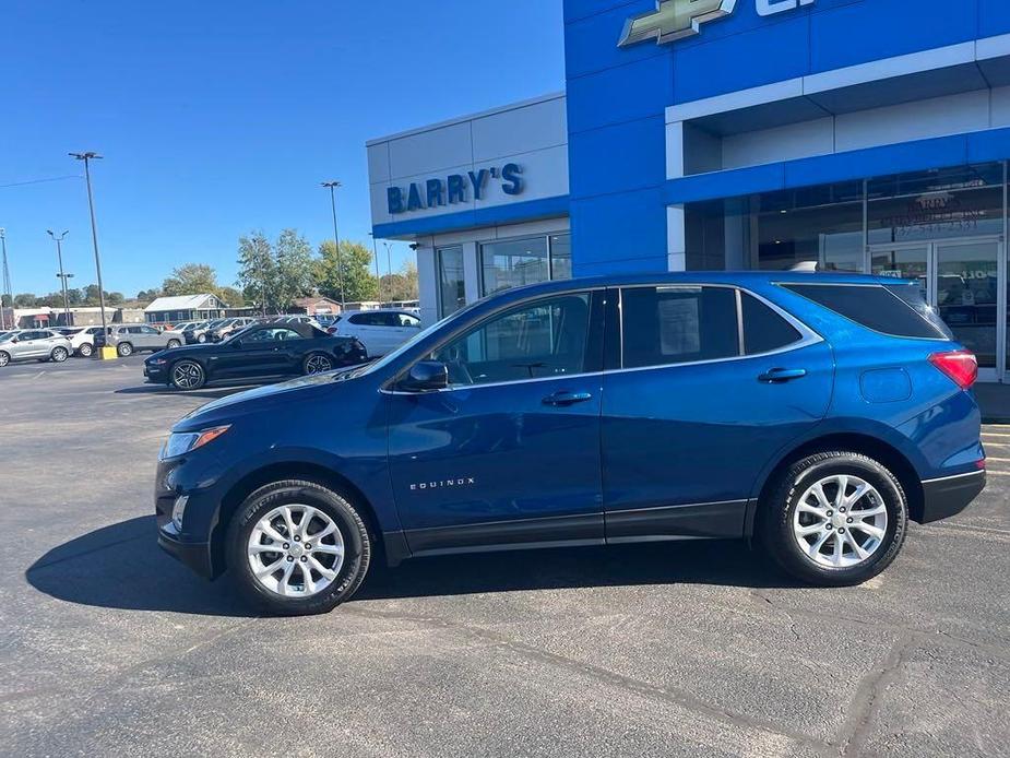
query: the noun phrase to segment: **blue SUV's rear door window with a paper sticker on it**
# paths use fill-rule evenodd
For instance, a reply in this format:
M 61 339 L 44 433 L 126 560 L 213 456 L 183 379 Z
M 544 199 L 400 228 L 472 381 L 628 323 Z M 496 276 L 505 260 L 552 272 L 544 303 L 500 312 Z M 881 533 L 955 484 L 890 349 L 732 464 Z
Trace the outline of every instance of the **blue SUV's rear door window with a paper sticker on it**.
M 740 355 L 732 288 L 627 287 L 621 291 L 621 312 L 625 368 Z

